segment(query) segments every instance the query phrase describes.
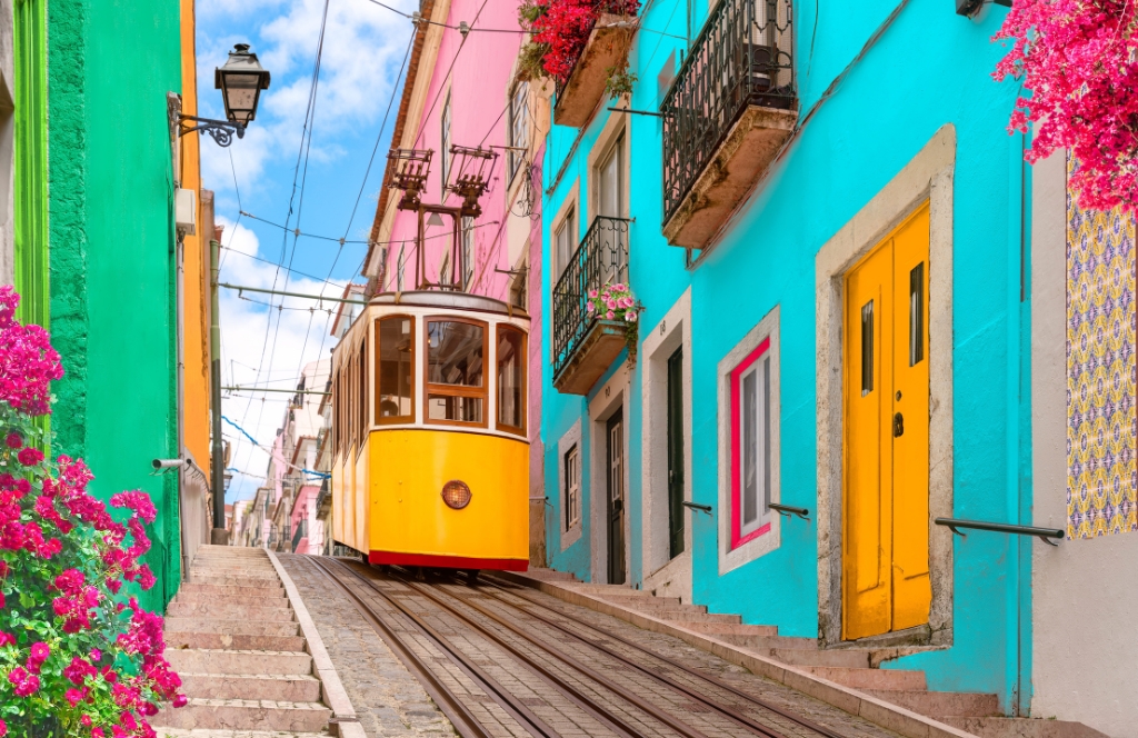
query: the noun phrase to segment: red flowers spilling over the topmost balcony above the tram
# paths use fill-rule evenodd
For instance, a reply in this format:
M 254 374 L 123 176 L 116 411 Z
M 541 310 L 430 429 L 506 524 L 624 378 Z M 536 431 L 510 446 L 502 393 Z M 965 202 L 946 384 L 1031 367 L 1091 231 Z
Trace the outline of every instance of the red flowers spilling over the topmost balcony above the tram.
M 530 31 L 536 43 L 549 44 L 543 68 L 564 82 L 577 66 L 601 14 L 636 15 L 640 0 L 536 0 L 538 18 Z

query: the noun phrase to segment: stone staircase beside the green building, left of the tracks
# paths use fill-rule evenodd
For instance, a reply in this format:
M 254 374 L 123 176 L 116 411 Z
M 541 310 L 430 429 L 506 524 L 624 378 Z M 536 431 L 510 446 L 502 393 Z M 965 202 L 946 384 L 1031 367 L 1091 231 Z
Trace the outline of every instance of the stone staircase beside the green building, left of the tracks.
M 262 549 L 203 546 L 166 610 L 166 658 L 189 703 L 158 736 L 328 736 L 331 710 L 284 587 Z

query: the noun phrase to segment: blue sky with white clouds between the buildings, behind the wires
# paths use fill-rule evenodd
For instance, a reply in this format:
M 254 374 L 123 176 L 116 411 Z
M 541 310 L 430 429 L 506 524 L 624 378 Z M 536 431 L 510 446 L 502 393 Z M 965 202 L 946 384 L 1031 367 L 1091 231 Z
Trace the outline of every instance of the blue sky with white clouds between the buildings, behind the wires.
M 387 0 L 387 5 L 407 13 L 418 9 L 415 0 Z M 335 239 L 365 240 L 398 99 L 371 172 L 366 179 L 364 174 L 393 88 L 398 93 L 397 73 L 413 26 L 370 0 L 328 0 L 327 7 L 307 174 L 303 199 L 299 184 L 295 192 L 290 228 Z M 262 92 L 257 120 L 244 139 L 234 140 L 228 149 L 201 139 L 204 187 L 215 192 L 217 221 L 226 227 L 222 281 L 255 287 L 275 284 L 277 289 L 338 296 L 343 285 L 358 274 L 366 251 L 363 244 L 345 244 L 338 254 L 340 246 L 335 240 L 286 237 L 281 228 L 239 216 L 241 210 L 272 223 L 284 223 L 289 216 L 324 8 L 325 0 L 197 3 L 198 104 L 203 116 L 224 116 L 221 92 L 214 89 L 214 68 L 225 63 L 234 43 L 249 43 L 272 73 L 272 85 Z M 304 158 L 300 162 L 304 177 Z M 278 269 L 280 263 L 294 271 Z M 222 290 L 224 385 L 290 387 L 305 363 L 329 356 L 328 311 L 310 311 L 314 306 L 311 301 L 286 298 L 282 303 L 267 295 L 247 296 L 261 302 Z M 273 308 L 263 304 L 269 302 Z M 277 305 L 284 310 L 277 310 Z M 324 306 L 333 308 L 330 303 Z M 222 408 L 228 418 L 270 445 L 282 425 L 286 397 L 231 396 L 223 400 Z M 225 437 L 234 444 L 231 466 L 247 473 L 234 475 L 226 499 L 249 499 L 262 484 L 256 477 L 265 473 L 267 453 L 230 426 Z

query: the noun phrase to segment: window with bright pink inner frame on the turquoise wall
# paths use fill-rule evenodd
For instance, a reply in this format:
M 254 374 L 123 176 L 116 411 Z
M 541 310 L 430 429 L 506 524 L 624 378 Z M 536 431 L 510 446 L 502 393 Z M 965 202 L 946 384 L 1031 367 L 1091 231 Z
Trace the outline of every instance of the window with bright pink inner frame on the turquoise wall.
M 732 372 L 732 548 L 770 530 L 770 339 Z

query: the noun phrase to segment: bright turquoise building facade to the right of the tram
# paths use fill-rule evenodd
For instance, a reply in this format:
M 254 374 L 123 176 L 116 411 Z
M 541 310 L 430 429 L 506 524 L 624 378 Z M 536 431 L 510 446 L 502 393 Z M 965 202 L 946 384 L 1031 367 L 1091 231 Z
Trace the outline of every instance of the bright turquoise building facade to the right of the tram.
M 1006 10 L 986 6 L 964 17 L 948 2 L 758 5 L 775 20 L 791 71 L 780 89 L 793 102 L 768 106 L 778 114 L 765 125 L 782 137 L 764 144 L 772 161 L 703 248 L 670 245 L 661 226 L 668 167 L 691 158 L 675 148 L 666 155 L 667 116 L 685 112 L 665 101 L 685 75 L 700 73 L 693 58 L 711 43 L 707 24 L 724 5 L 648 3 L 629 36 L 632 95 L 601 101 L 579 128 L 554 125 L 547 138 L 547 563 L 594 582 L 624 575 L 633 587 L 827 647 L 857 640 L 894 649 L 882 669 L 924 670 L 931 690 L 996 694 L 1005 714 L 1029 714 L 1031 555 L 1042 543 L 988 532 L 957 538 L 933 523 L 1032 523 L 1030 170 L 1023 137 L 1007 132 L 1019 90 L 991 79 L 1004 50 L 990 39 Z M 695 112 L 711 105 L 704 99 Z M 754 140 L 765 139 L 740 150 Z M 605 169 L 613 155 L 616 179 Z M 711 180 L 695 188 L 714 188 Z M 567 232 L 576 248 L 596 243 L 599 214 L 627 229 L 627 266 L 605 273 L 626 280 L 643 305 L 637 351 L 634 362 L 624 351 L 594 367 L 595 383 L 570 394 L 558 386 L 588 363 L 592 344 L 579 339 L 577 355 L 558 355 L 555 295 L 574 259 L 562 244 Z M 846 286 L 913 218 L 929 219 L 917 290 L 931 372 L 927 531 L 898 522 L 893 534 L 925 536 L 927 600 L 918 605 L 927 616 L 851 638 L 844 580 L 850 540 L 863 532 L 843 520 L 850 440 L 842 424 L 852 402 L 843 329 L 853 325 L 843 317 Z M 736 518 L 753 511 L 735 509 L 744 506 L 735 467 L 745 476 L 749 461 L 735 451 L 748 432 L 733 424 L 733 393 L 745 392 L 739 383 L 756 361 L 767 372 L 759 379 L 765 501 L 805 508 L 808 519 L 766 510 L 739 530 Z M 682 525 L 669 484 L 686 503 Z M 621 485 L 615 514 L 608 500 Z

